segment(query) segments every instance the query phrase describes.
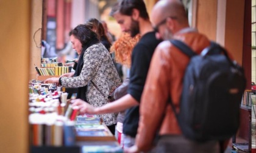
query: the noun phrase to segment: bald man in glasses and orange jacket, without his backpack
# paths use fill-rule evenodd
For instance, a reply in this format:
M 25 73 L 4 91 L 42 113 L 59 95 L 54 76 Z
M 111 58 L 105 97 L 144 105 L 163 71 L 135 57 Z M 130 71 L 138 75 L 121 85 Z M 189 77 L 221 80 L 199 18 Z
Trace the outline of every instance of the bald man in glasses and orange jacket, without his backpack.
M 180 1 L 162 0 L 152 10 L 152 24 L 156 37 L 165 39 L 155 49 L 149 68 L 140 106 L 140 122 L 135 146 L 126 152 L 221 152 L 218 141 L 198 143 L 182 136 L 176 116 L 168 102 L 179 110 L 182 78 L 189 62 L 187 55 L 172 46 L 168 39 L 179 39 L 197 54 L 210 45 L 210 41 L 197 30 L 191 29 Z M 155 135 L 159 138 L 154 144 Z

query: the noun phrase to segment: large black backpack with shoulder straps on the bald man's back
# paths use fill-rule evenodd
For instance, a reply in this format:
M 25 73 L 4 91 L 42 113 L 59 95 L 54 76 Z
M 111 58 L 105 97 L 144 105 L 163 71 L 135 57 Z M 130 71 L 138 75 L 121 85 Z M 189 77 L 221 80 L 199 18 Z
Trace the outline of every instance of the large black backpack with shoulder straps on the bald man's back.
M 170 41 L 191 58 L 183 77 L 179 114 L 170 101 L 183 135 L 196 141 L 235 135 L 246 86 L 243 68 L 215 42 L 196 55 L 182 41 Z

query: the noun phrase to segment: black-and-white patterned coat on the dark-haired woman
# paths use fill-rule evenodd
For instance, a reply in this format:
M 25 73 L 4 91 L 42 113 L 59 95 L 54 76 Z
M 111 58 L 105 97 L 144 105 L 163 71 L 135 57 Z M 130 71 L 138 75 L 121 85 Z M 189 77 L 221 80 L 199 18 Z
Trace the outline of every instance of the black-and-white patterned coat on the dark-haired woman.
M 77 77 L 62 77 L 63 87 L 83 87 L 87 85 L 87 102 L 95 107 L 107 104 L 107 97 L 116 87 L 121 84 L 118 72 L 113 64 L 108 50 L 101 44 L 97 43 L 88 47 L 84 53 L 84 66 Z M 93 86 L 94 84 L 101 90 L 104 97 Z M 107 126 L 116 123 L 117 114 L 102 114 L 99 117 L 104 120 Z

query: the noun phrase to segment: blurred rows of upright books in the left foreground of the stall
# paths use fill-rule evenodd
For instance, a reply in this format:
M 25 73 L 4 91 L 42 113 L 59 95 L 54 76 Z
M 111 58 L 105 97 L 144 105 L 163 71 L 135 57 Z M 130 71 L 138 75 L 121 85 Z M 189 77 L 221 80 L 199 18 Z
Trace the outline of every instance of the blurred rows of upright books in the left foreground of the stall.
M 67 107 L 66 93 L 58 92 L 54 84 L 34 80 L 29 89 L 31 146 L 74 146 L 78 108 Z

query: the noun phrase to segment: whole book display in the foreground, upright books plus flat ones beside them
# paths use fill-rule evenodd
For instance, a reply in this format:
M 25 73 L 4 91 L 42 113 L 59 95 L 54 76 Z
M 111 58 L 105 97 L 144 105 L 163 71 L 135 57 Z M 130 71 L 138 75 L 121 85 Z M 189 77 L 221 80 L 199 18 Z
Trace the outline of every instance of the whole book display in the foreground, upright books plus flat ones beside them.
M 63 91 L 55 84 L 30 81 L 30 152 L 123 152 L 101 118 L 78 115 Z

